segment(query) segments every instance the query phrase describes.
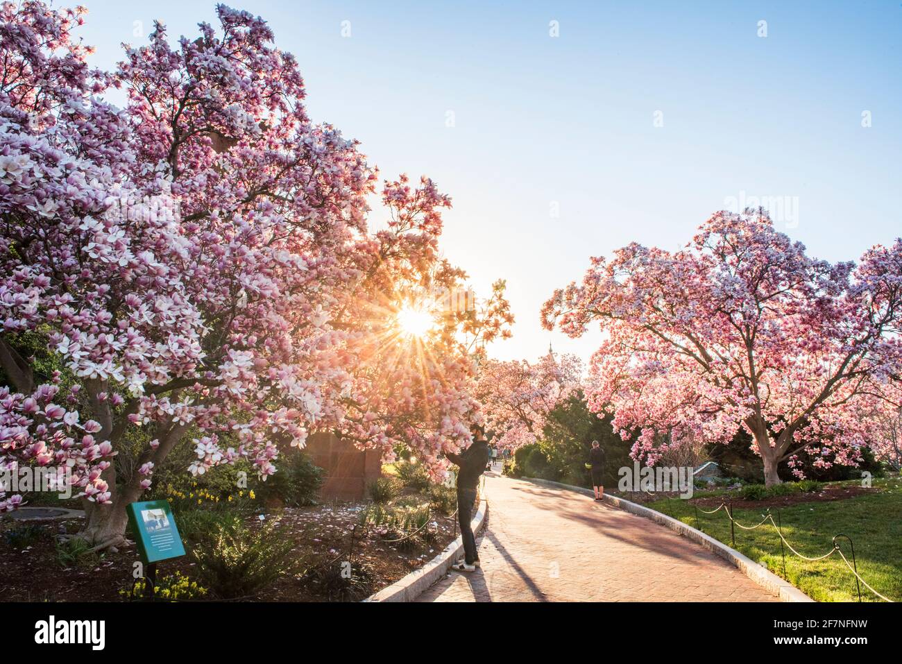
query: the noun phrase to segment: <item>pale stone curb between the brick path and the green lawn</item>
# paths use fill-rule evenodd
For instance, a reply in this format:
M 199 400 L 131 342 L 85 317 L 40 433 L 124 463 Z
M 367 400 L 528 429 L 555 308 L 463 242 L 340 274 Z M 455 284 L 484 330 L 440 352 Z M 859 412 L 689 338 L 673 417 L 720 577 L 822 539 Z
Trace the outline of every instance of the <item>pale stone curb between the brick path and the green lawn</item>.
M 570 491 L 594 496 L 594 492 L 591 489 L 584 489 L 582 486 L 574 486 L 573 484 L 561 484 L 560 482 L 540 480 L 533 477 L 521 477 L 520 479 L 532 482 L 534 484 L 556 486 L 561 489 L 568 489 Z M 611 503 L 614 507 L 618 507 L 624 512 L 630 512 L 638 516 L 643 516 L 646 519 L 650 519 L 661 524 L 662 526 L 666 526 L 670 530 L 676 530 L 676 532 L 678 532 L 680 535 L 683 535 L 687 539 L 692 539 L 696 544 L 702 545 L 704 549 L 708 549 L 712 553 L 717 554 L 727 562 L 731 563 L 733 567 L 740 569 L 741 572 L 745 574 L 745 576 L 748 576 L 752 581 L 767 590 L 772 595 L 778 596 L 783 602 L 815 601 L 808 595 L 805 595 L 805 593 L 803 593 L 801 590 L 796 588 L 796 586 L 790 584 L 787 580 L 782 579 L 771 572 L 767 567 L 759 565 L 759 563 L 756 563 L 751 558 L 744 556 L 736 549 L 732 549 L 723 542 L 705 535 L 701 530 L 696 530 L 683 521 L 676 521 L 676 519 L 667 516 L 667 514 L 662 514 L 661 512 L 649 509 L 648 507 L 642 507 L 641 505 L 632 503 L 623 498 L 616 498 L 612 495 L 608 495 L 607 493 L 604 494 L 603 498 L 605 503 Z

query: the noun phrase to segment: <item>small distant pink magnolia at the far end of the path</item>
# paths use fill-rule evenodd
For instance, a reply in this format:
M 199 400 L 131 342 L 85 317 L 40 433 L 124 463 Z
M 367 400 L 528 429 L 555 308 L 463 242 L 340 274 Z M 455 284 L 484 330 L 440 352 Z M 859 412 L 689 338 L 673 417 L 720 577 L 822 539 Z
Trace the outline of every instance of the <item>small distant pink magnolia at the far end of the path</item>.
M 487 360 L 480 366 L 476 397 L 485 423 L 500 447 L 517 448 L 542 435 L 548 413 L 580 387 L 582 364 L 575 355 L 548 353 L 535 364 L 526 360 Z

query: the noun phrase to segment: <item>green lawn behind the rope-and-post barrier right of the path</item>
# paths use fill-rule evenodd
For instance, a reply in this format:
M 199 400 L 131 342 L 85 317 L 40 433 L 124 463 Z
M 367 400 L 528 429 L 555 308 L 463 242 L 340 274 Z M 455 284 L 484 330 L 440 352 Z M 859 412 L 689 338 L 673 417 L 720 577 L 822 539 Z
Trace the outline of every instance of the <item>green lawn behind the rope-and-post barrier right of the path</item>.
M 902 601 L 902 480 L 898 477 L 875 479 L 873 485 L 881 491 L 832 503 L 797 503 L 780 508 L 783 536 L 799 553 L 815 558 L 833 547 L 833 535 L 848 535 L 855 544 L 861 577 L 882 595 L 899 602 Z M 713 494 L 716 493 L 696 492 L 695 496 Z M 741 503 L 739 500 L 733 501 L 736 521 L 751 526 L 764 518 L 765 510 L 743 509 Z M 673 498 L 645 504 L 697 527 L 695 509 L 685 500 Z M 713 507 L 704 509 L 712 510 Z M 776 520 L 776 511 L 772 512 Z M 700 511 L 699 520 L 706 534 L 731 544 L 730 521 L 723 510 L 713 515 Z M 784 574 L 780 539 L 769 522 L 757 530 L 741 530 L 738 527 L 735 530 L 736 549 L 787 579 L 812 599 L 819 602 L 858 601 L 855 576 L 839 555 L 809 562 L 797 558 L 787 549 Z M 838 541 L 851 562 L 848 541 Z M 865 586 L 861 586 L 861 600 L 881 601 Z

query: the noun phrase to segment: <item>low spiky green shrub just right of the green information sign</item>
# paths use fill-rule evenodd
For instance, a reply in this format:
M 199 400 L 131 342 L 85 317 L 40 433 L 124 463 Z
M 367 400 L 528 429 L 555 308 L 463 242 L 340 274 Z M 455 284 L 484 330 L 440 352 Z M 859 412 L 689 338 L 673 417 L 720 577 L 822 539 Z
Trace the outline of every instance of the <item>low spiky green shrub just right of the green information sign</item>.
M 294 574 L 294 541 L 283 537 L 278 521 L 259 529 L 222 523 L 190 550 L 200 580 L 219 598 L 254 595 L 280 576 Z

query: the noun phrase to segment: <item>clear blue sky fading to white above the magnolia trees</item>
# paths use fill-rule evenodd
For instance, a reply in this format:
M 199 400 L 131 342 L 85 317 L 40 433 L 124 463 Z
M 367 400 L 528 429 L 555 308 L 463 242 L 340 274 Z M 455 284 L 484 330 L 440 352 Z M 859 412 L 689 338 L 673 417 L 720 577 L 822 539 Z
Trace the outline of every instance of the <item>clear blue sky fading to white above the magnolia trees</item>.
M 176 37 L 215 18 L 213 2 L 83 1 L 104 68 L 153 19 Z M 539 326 L 551 292 L 590 255 L 674 249 L 741 199 L 783 206 L 778 227 L 831 261 L 902 235 L 898 0 L 230 4 L 298 57 L 313 119 L 383 177 L 427 174 L 453 198 L 446 255 L 477 291 L 506 278 L 517 316 L 493 355 L 587 357 L 597 333 Z

